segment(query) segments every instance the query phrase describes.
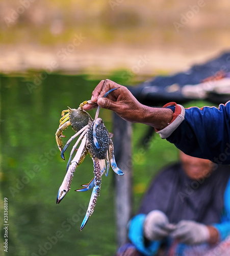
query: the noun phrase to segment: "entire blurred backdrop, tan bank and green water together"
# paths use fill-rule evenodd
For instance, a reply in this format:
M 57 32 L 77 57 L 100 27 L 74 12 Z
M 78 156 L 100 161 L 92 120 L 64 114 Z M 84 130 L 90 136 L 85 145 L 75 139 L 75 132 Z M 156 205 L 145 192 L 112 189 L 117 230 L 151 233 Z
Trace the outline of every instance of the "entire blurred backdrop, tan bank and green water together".
M 55 141 L 61 112 L 90 99 L 101 79 L 133 86 L 228 51 L 229 12 L 227 0 L 0 1 L 1 255 L 113 255 L 112 170 L 103 177 L 95 211 L 81 232 L 91 192 L 74 189 L 93 176 L 89 156 L 56 205 L 66 168 Z M 209 102 L 187 106 L 194 104 Z M 100 111 L 110 132 L 111 114 Z M 149 177 L 176 161 L 177 151 L 158 136 L 143 148 L 147 126 L 132 128 L 135 213 Z M 73 133 L 65 131 L 67 138 Z M 8 252 L 3 247 L 4 198 Z

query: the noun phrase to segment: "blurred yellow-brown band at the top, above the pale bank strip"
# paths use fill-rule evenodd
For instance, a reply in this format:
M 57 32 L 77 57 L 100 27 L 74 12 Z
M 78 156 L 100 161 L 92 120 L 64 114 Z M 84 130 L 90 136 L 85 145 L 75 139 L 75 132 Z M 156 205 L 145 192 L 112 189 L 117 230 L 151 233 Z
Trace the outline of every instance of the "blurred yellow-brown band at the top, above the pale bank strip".
M 223 41 L 230 27 L 229 11 L 227 0 L 1 0 L 0 44 L 57 44 L 68 41 L 76 30 L 94 44 L 178 43 L 191 32 L 204 37 L 213 30 L 219 32 L 214 40 Z

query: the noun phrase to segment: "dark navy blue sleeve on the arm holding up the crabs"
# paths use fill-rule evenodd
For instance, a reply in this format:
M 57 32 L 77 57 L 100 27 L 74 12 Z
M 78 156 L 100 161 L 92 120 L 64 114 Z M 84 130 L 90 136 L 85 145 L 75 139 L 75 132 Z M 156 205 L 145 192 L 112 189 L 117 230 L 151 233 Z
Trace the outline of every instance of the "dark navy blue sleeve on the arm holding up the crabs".
M 185 119 L 167 140 L 188 155 L 229 164 L 230 101 L 219 108 L 186 109 Z

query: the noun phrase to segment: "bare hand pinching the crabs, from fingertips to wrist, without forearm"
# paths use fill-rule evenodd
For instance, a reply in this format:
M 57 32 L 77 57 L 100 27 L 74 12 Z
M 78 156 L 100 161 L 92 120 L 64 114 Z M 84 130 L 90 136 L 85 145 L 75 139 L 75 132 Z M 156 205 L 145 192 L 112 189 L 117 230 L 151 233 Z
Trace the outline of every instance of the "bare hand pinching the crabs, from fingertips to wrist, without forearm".
M 106 92 L 114 88 L 118 89 L 103 98 Z M 131 122 L 141 122 L 141 117 L 145 112 L 145 106 L 126 87 L 109 79 L 101 80 L 98 83 L 92 93 L 91 103 L 84 105 L 83 109 L 91 110 L 97 105 L 101 108 L 112 110 L 124 120 Z

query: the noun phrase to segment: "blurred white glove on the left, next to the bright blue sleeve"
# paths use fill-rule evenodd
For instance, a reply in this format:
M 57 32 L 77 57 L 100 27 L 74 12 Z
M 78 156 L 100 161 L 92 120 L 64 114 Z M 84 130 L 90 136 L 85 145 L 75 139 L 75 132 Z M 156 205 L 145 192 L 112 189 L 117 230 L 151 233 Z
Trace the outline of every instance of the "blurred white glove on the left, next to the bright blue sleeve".
M 174 230 L 167 216 L 160 210 L 152 210 L 145 218 L 144 236 L 148 240 L 161 240 Z

